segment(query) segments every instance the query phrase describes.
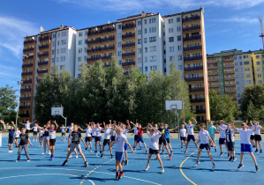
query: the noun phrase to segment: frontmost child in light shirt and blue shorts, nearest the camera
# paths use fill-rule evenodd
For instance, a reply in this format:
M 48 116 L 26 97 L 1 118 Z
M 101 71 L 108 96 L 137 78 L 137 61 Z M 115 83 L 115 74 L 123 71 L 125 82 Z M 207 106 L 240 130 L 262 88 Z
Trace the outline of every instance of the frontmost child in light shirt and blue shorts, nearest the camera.
M 117 137 L 116 137 L 116 141 L 114 141 L 110 147 L 112 147 L 114 144 L 117 144 L 116 146 L 116 180 L 120 180 L 122 178 L 122 176 L 124 176 L 124 172 L 123 172 L 123 168 L 122 168 L 122 164 L 121 162 L 123 161 L 123 156 L 124 156 L 124 144 L 127 144 L 132 152 L 132 146 L 128 143 L 126 137 L 123 134 L 123 129 L 117 128 Z M 118 171 L 120 171 L 120 173 L 118 173 Z

